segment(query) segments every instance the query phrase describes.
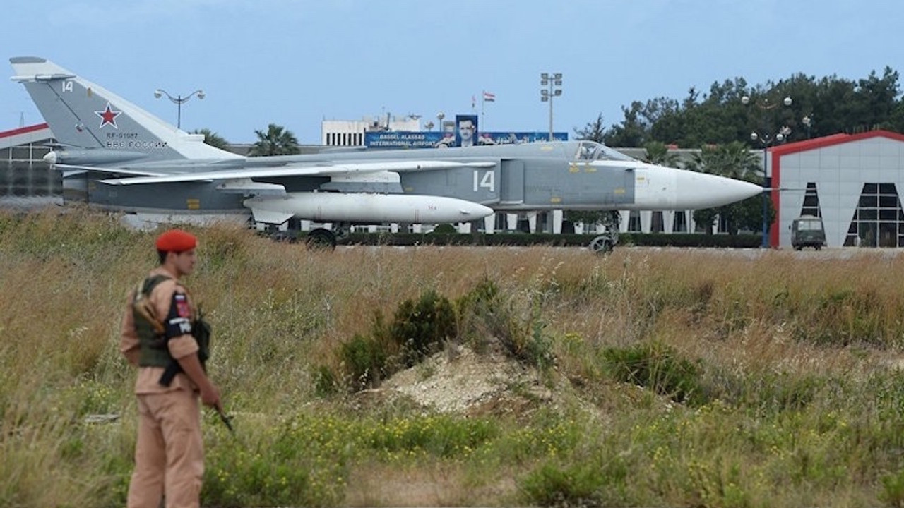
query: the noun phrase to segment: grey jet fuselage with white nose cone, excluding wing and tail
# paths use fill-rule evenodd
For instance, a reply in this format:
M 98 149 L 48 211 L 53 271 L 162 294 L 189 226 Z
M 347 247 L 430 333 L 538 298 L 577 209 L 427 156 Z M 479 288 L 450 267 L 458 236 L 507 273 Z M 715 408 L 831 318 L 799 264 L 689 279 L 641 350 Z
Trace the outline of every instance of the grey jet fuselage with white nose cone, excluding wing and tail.
M 65 150 L 56 153 L 66 161 Z M 649 165 L 588 141 L 475 146 L 417 150 L 332 152 L 316 155 L 248 158 L 221 164 L 214 172 L 282 165 L 343 166 L 423 161 L 422 168 L 397 169 L 398 180 L 368 181 L 357 176 L 256 176 L 260 183 L 281 185 L 288 192 L 410 193 L 463 199 L 494 211 L 567 210 L 696 210 L 720 206 L 761 192 L 751 183 Z M 453 167 L 431 169 L 429 161 L 450 161 Z M 89 202 L 123 212 L 247 212 L 241 193 L 224 192 L 209 165 L 180 163 L 144 165 L 160 174 L 177 174 L 174 182 L 154 176 L 110 178 L 89 189 Z M 199 172 L 199 170 L 202 170 Z M 198 172 L 203 179 L 186 181 Z M 97 175 L 95 174 L 96 178 Z M 134 183 L 129 183 L 129 180 Z M 265 193 L 266 194 L 266 193 Z

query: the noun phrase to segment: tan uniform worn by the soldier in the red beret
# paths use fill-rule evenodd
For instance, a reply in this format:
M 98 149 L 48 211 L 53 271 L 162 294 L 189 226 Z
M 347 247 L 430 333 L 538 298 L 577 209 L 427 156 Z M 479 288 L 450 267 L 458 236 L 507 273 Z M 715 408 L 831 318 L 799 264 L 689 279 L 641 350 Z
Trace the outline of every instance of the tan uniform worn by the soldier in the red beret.
M 164 321 L 174 293 L 187 296 L 187 291 L 163 267 L 155 268 L 148 277 L 154 275 L 170 278 L 159 283 L 150 294 L 156 316 Z M 128 296 L 119 350 L 137 365 L 139 342 L 132 311 L 134 297 L 134 292 Z M 192 314 L 194 318 L 193 306 Z M 198 352 L 198 344 L 191 334 L 171 338 L 167 347 L 175 359 Z M 197 387 L 184 372 L 176 374 L 169 386 L 161 385 L 158 381 L 164 370 L 163 367 L 138 368 L 135 382 L 138 437 L 135 471 L 128 486 L 129 508 L 159 508 L 164 494 L 166 508 L 200 505 L 204 452 Z

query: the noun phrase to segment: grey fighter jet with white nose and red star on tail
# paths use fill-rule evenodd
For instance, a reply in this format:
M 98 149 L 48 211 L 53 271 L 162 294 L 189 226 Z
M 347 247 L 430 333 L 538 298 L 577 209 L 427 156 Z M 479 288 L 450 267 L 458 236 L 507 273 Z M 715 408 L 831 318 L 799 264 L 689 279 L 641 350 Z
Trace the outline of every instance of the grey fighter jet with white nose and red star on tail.
M 37 57 L 10 59 L 57 145 L 45 160 L 90 205 L 154 217 L 238 215 L 266 224 L 476 221 L 494 212 L 696 210 L 763 192 L 650 165 L 591 141 L 244 157 L 203 143 Z M 602 238 L 602 237 L 600 237 Z M 595 240 L 612 247 L 606 237 Z

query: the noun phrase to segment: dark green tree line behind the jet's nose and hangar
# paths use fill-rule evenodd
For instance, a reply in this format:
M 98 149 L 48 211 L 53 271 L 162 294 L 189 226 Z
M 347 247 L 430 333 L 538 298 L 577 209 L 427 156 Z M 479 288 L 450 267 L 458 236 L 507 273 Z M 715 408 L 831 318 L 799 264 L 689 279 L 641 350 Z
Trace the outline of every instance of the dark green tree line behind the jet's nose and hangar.
M 837 76 L 816 79 L 798 73 L 786 80 L 749 86 L 735 78 L 714 82 L 709 93 L 691 88 L 682 99 L 659 97 L 622 107 L 624 119 L 604 127 L 602 115 L 576 129 L 581 139 L 607 146 L 643 147 L 661 142 L 682 148 L 700 148 L 738 141 L 751 147 L 758 142 L 751 132 L 775 133 L 789 127 L 787 141 L 877 128 L 904 132 L 904 100 L 900 98 L 898 71 L 886 67 L 862 80 Z M 745 104 L 741 98 L 749 97 Z M 790 106 L 782 104 L 786 97 Z M 761 108 L 760 106 L 768 106 Z M 805 118 L 810 125 L 805 124 Z

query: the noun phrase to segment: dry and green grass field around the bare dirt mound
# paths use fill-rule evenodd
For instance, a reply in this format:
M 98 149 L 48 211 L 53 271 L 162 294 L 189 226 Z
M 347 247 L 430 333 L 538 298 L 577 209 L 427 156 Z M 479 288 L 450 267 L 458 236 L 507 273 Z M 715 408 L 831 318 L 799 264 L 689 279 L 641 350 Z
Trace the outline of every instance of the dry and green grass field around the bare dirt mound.
M 897 252 L 322 252 L 193 230 L 236 427 L 205 412 L 207 506 L 904 505 Z M 124 504 L 119 324 L 154 238 L 0 213 L 0 505 Z M 560 397 L 466 418 L 356 393 L 448 343 L 499 344 Z

